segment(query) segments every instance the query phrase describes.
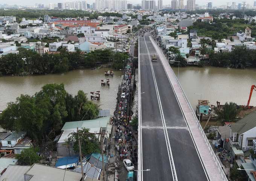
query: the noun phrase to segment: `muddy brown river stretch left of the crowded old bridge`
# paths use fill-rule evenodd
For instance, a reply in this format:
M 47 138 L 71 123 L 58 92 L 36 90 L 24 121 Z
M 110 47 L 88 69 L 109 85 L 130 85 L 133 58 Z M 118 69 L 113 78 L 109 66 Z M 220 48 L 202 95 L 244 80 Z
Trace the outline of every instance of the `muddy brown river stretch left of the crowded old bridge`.
M 83 90 L 90 99 L 91 91 L 101 91 L 101 99 L 99 101 L 94 100 L 94 102 L 98 102 L 101 109 L 110 109 L 110 114 L 113 115 L 122 71 L 114 71 L 113 77 L 105 77 L 105 70 L 107 69 L 81 69 L 62 74 L 0 77 L 0 110 L 4 110 L 6 104 L 15 101 L 20 94 L 34 95 L 45 84 L 64 83 L 65 90 L 73 96 L 77 94 L 78 90 Z M 110 87 L 102 87 L 101 79 L 107 78 L 110 79 Z

